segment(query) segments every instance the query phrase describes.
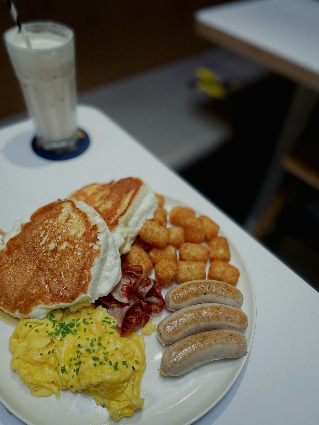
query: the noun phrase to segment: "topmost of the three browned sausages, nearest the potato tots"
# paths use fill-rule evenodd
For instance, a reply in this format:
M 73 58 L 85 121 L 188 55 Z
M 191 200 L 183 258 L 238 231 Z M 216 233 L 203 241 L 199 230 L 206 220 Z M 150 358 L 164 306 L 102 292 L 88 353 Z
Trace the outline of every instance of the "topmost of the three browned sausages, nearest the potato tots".
M 174 286 L 165 295 L 165 306 L 173 312 L 200 303 L 220 303 L 240 308 L 243 301 L 238 288 L 219 280 L 190 280 Z

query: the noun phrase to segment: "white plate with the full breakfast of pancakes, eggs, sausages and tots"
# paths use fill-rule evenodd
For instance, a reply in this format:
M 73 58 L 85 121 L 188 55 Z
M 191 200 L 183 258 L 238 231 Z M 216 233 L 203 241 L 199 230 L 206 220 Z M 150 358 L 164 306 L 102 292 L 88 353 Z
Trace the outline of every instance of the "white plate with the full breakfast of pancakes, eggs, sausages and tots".
M 256 300 L 204 214 L 132 177 L 3 234 L 2 404 L 27 425 L 188 425 L 213 408 L 248 359 Z

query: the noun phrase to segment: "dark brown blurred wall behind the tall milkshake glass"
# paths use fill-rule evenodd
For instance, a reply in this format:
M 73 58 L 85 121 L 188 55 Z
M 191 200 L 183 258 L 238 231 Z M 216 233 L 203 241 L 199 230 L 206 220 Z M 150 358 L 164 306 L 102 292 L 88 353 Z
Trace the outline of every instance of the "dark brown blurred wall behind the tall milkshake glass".
M 225 0 L 15 0 L 20 21 L 54 20 L 75 31 L 83 91 L 211 48 L 194 32 L 194 11 Z M 0 33 L 13 22 L 0 1 Z M 0 119 L 25 111 L 0 42 Z

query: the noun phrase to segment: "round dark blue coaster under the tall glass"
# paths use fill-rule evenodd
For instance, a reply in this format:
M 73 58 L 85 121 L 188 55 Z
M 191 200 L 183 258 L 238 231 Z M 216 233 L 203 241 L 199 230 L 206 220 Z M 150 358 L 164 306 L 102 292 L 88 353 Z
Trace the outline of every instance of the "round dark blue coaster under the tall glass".
M 81 153 L 83 153 L 88 148 L 89 144 L 90 139 L 88 135 L 85 133 L 85 131 L 79 129 L 77 130 L 77 142 L 72 150 L 63 153 L 57 153 L 54 150 L 42 149 L 36 137 L 34 137 L 32 140 L 32 149 L 37 155 L 42 156 L 42 158 L 51 159 L 53 161 L 63 161 L 64 159 L 71 159 L 75 156 L 81 155 Z

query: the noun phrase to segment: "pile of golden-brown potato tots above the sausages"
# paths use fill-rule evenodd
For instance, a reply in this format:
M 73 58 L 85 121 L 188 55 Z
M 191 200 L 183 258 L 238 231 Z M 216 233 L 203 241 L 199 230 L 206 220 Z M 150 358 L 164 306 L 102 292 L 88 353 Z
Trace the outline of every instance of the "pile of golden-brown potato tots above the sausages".
M 240 273 L 229 263 L 231 252 L 227 239 L 218 235 L 219 225 L 191 208 L 168 213 L 163 196 L 156 197 L 154 218 L 145 221 L 125 261 L 141 265 L 147 275 L 154 267 L 161 286 L 206 278 L 236 286 Z

